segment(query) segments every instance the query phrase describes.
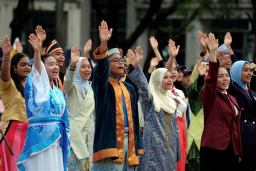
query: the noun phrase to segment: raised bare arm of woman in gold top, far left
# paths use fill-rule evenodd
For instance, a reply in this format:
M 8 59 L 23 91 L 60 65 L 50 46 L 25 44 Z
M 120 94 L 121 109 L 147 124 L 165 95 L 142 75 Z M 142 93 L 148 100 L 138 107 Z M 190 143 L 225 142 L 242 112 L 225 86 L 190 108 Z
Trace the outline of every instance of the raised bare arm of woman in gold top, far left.
M 11 43 L 9 41 L 8 35 L 4 35 L 1 41 L 1 45 L 2 45 L 2 51 L 3 51 L 3 62 L 1 66 L 2 80 L 8 81 L 11 78 L 11 74 L 10 74 Z

